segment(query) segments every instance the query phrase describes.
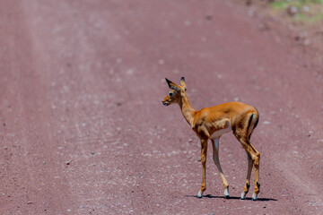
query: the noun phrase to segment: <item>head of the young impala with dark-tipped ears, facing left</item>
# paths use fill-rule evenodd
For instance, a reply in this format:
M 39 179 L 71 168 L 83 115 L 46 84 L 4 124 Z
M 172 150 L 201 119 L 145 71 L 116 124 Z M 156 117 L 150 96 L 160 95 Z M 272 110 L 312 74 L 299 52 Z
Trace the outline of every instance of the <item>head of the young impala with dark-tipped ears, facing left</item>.
M 169 106 L 172 103 L 179 103 L 181 94 L 180 92 L 185 92 L 187 90 L 187 86 L 185 83 L 185 78 L 182 77 L 180 79 L 179 85 L 177 85 L 174 82 L 170 82 L 170 80 L 166 79 L 166 82 L 168 83 L 170 87 L 170 91 L 168 95 L 162 99 L 162 104 L 164 106 Z

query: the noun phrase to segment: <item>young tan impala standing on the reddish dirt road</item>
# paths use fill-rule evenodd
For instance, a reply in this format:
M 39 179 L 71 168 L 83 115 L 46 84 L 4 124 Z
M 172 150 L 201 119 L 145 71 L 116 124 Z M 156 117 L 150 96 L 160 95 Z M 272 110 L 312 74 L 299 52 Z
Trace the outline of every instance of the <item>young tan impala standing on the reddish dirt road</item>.
M 206 189 L 205 164 L 208 140 L 211 140 L 212 142 L 214 163 L 223 180 L 224 196 L 226 198 L 230 197 L 229 185 L 225 179 L 219 160 L 219 139 L 223 133 L 231 132 L 242 144 L 244 150 L 246 150 L 248 158 L 247 179 L 240 198 L 245 199 L 246 194 L 249 192 L 249 180 L 252 167 L 254 166 L 255 191 L 252 195 L 252 200 L 257 200 L 260 188 L 260 153 L 250 143 L 251 133 L 258 124 L 259 115 L 257 109 L 240 102 L 229 102 L 214 107 L 202 108 L 201 110 L 196 111 L 188 101 L 188 95 L 186 93 L 187 86 L 184 77 L 180 79 L 179 85 L 170 82 L 168 79 L 166 79 L 166 82 L 170 87 L 170 92 L 162 100 L 162 104 L 164 106 L 169 106 L 173 103 L 179 104 L 179 108 L 184 118 L 201 142 L 202 185 L 197 197 L 202 198 L 203 192 L 205 192 Z

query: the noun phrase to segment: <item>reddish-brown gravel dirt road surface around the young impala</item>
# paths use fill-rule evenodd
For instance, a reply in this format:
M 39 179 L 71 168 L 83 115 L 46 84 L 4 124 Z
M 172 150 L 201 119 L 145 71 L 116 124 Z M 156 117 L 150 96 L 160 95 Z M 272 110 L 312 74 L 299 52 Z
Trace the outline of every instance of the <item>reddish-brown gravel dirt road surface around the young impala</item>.
M 0 1 L 0 214 L 323 214 L 323 73 L 278 22 L 231 1 Z M 258 202 L 231 134 L 207 161 L 193 107 L 258 108 Z

